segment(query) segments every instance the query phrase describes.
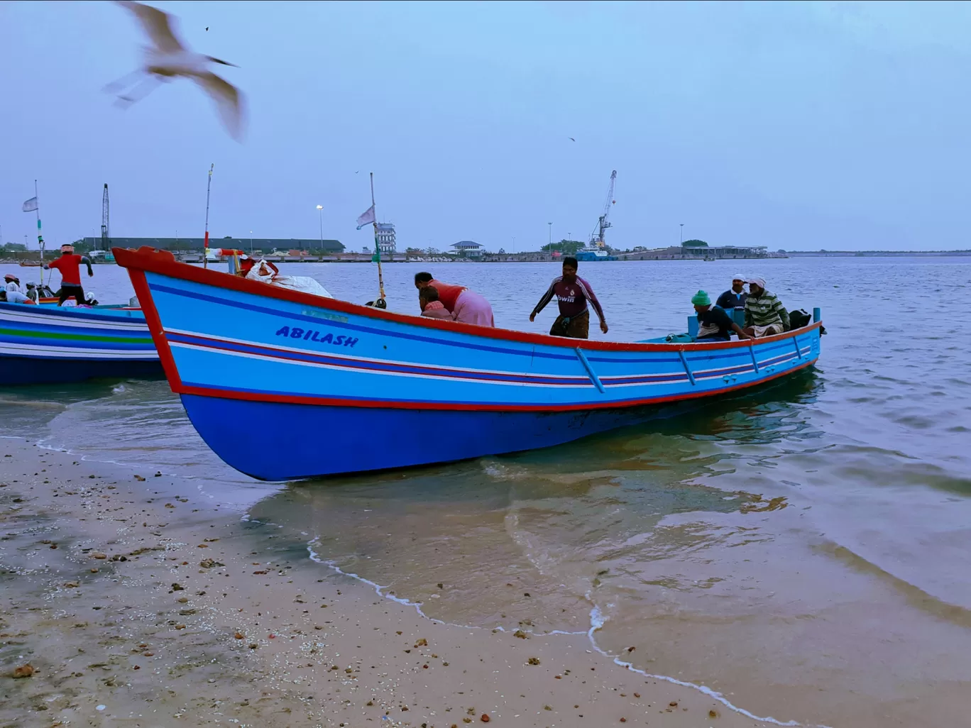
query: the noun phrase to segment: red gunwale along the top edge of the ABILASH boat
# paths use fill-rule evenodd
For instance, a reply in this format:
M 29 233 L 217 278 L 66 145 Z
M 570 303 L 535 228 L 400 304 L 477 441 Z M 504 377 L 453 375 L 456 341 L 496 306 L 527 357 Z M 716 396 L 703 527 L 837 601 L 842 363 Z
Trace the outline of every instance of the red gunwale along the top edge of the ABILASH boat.
M 791 331 L 787 331 L 782 334 L 766 336 L 753 341 L 744 340 L 711 343 L 706 342 L 704 344 L 596 342 L 586 339 L 567 339 L 564 337 L 550 336 L 549 334 L 531 334 L 524 331 L 515 331 L 513 329 L 503 329 L 491 326 L 477 326 L 475 324 L 461 323 L 459 321 L 443 321 L 425 316 L 396 314 L 391 311 L 385 311 L 384 309 L 376 309 L 370 306 L 354 304 L 350 301 L 340 301 L 336 298 L 323 298 L 310 293 L 302 293 L 300 291 L 282 288 L 278 285 L 268 285 L 262 281 L 250 281 L 240 278 L 239 276 L 234 276 L 230 273 L 224 273 L 209 268 L 199 268 L 189 265 L 188 263 L 179 262 L 175 259 L 175 256 L 171 252 L 168 250 L 159 250 L 158 248 L 150 248 L 147 246 L 143 246 L 137 250 L 134 248 L 112 248 L 112 253 L 115 255 L 117 265 L 129 270 L 134 269 L 137 271 L 147 271 L 149 273 L 167 276 L 176 280 L 191 281 L 203 285 L 211 285 L 216 288 L 228 288 L 239 293 L 250 293 L 255 296 L 275 298 L 281 301 L 287 301 L 289 303 L 313 306 L 318 309 L 330 309 L 342 314 L 353 314 L 363 316 L 365 318 L 393 321 L 395 323 L 403 323 L 409 326 L 417 326 L 419 328 L 423 327 L 432 330 L 447 330 L 455 333 L 469 334 L 471 336 L 481 337 L 484 339 L 499 339 L 501 341 L 539 345 L 544 347 L 559 347 L 567 349 L 580 347 L 587 350 L 632 352 L 680 350 L 711 351 L 721 348 L 752 347 L 759 346 L 761 344 L 783 341 L 785 339 L 807 334 L 815 329 L 820 328 L 822 325 L 821 321 L 816 321 L 815 323 L 809 324 L 808 326 L 803 326 L 802 328 L 792 329 Z M 135 283 L 134 279 L 132 282 Z M 145 282 L 148 283 L 148 281 Z M 142 293 L 142 291 L 137 290 L 138 287 L 139 286 L 136 284 L 136 293 Z M 146 314 L 146 320 L 150 321 L 151 323 L 151 319 L 154 319 L 154 321 L 157 322 L 158 331 L 161 333 L 161 322 L 158 319 L 154 301 L 151 301 L 151 303 L 149 301 L 142 301 L 142 307 L 143 313 Z M 151 309 L 151 313 L 149 309 Z M 153 328 L 154 327 L 150 325 L 150 329 Z

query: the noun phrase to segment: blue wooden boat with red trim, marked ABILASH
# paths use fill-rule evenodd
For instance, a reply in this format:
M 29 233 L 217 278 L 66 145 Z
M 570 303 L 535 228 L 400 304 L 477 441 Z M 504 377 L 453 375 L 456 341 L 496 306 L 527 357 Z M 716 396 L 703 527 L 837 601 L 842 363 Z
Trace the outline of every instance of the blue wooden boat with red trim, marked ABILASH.
M 755 344 L 578 341 L 319 298 L 167 251 L 114 252 L 192 424 L 261 480 L 558 445 L 820 355 L 819 321 Z

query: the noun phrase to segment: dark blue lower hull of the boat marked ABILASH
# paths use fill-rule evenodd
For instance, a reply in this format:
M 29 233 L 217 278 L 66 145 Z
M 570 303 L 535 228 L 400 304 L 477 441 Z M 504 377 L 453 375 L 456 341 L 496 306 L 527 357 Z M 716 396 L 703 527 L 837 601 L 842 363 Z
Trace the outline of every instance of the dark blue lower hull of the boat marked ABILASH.
M 299 480 L 562 445 L 704 407 L 731 394 L 674 407 L 546 413 L 372 409 L 181 396 L 192 425 L 227 465 L 258 480 Z

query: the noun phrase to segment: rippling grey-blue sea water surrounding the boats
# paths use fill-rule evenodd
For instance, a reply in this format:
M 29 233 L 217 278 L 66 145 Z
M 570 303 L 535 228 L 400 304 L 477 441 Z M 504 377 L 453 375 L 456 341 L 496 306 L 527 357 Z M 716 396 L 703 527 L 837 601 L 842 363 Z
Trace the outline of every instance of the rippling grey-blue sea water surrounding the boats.
M 552 322 L 528 315 L 553 264 L 388 264 L 391 310 L 419 313 L 425 269 L 485 294 L 500 326 Z M 283 270 L 377 296 L 373 265 Z M 164 381 L 8 388 L 0 433 L 180 476 L 245 514 L 254 540 L 266 524 L 311 568 L 429 618 L 589 633 L 646 674 L 783 722 L 965 724 L 951 710 L 971 689 L 971 258 L 582 264 L 610 324 L 604 337 L 594 317 L 591 336 L 684 331 L 691 295 L 736 272 L 822 309 L 817 367 L 561 447 L 260 483 L 201 442 Z M 103 302 L 132 294 L 117 267 L 85 283 Z M 327 447 L 326 431 L 292 437 Z M 362 447 L 394 437 L 379 426 Z

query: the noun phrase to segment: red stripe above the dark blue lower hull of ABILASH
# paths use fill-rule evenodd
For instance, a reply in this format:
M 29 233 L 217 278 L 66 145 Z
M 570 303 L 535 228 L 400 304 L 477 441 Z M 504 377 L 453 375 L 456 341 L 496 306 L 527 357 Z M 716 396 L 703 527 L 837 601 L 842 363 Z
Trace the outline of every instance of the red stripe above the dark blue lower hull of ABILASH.
M 117 253 L 116 253 L 117 258 Z M 819 357 L 817 357 L 819 358 Z M 334 397 L 300 397 L 292 394 L 271 394 L 263 392 L 233 391 L 230 389 L 217 389 L 214 387 L 195 386 L 190 384 L 172 384 L 172 391 L 177 394 L 194 394 L 200 397 L 216 397 L 221 399 L 242 399 L 247 402 L 278 402 L 288 405 L 326 405 L 332 407 L 364 407 L 382 408 L 389 410 L 450 410 L 461 412 L 577 412 L 588 410 L 624 410 L 630 407 L 641 407 L 644 405 L 663 405 L 681 400 L 698 399 L 699 397 L 712 397 L 727 392 L 734 392 L 750 386 L 764 384 L 780 377 L 785 377 L 800 369 L 805 369 L 816 363 L 816 359 L 806 361 L 797 367 L 787 369 L 785 372 L 777 372 L 771 377 L 748 381 L 744 384 L 736 384 L 721 389 L 708 389 L 705 391 L 688 392 L 686 394 L 676 394 L 669 397 L 651 397 L 637 400 L 623 400 L 621 402 L 595 402 L 582 403 L 576 405 L 508 405 L 508 404 L 463 404 L 460 402 L 401 402 L 395 400 L 355 400 L 340 399 Z M 171 383 L 171 381 L 170 381 Z

